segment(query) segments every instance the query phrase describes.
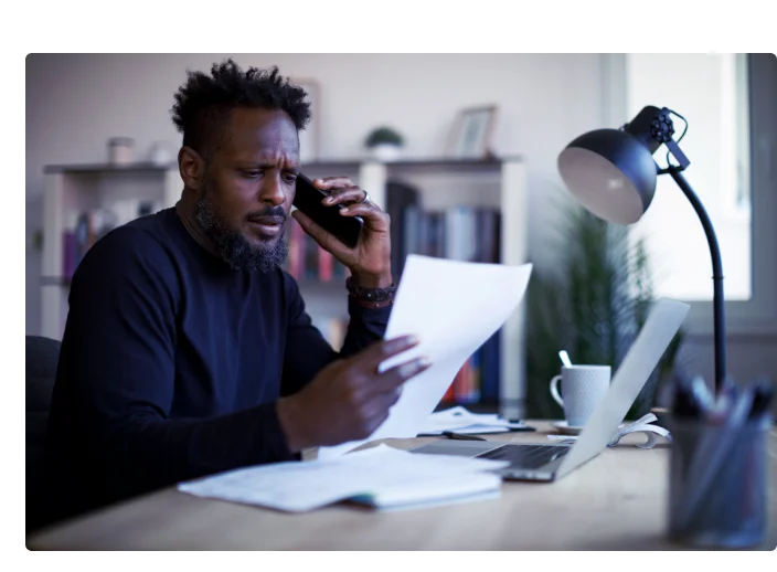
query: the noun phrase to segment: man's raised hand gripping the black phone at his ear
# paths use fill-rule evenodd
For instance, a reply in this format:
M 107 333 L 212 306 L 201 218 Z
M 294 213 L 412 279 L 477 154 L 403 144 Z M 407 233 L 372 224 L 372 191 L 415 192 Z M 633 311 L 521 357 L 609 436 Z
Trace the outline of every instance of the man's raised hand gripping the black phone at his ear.
M 300 173 L 300 177 L 304 177 Z M 348 177 L 326 177 L 313 179 L 316 189 L 323 191 L 321 204 L 339 211 L 338 216 L 355 218 L 363 221 L 359 240 L 354 246 L 349 246 L 318 224 L 309 214 L 302 212 L 295 200 L 297 210 L 292 216 L 305 232 L 312 236 L 322 248 L 330 252 L 344 264 L 353 276 L 353 280 L 364 288 L 383 288 L 392 284 L 391 275 L 391 234 L 388 214 L 372 201 L 365 201 L 368 194 L 353 184 Z M 298 182 L 298 191 L 299 189 Z M 338 209 L 337 205 L 343 208 Z M 312 210 L 309 210 L 313 214 Z

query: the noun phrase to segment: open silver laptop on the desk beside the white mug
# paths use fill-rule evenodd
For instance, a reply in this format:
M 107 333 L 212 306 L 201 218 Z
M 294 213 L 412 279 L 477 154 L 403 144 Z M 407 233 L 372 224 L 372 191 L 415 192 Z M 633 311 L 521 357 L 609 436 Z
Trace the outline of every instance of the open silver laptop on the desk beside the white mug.
M 615 372 L 607 394 L 574 444 L 443 439 L 411 451 L 509 460 L 508 467 L 498 469 L 505 480 L 550 483 L 563 477 L 602 453 L 613 439 L 689 309 L 688 304 L 667 298 L 654 304 L 639 336 Z

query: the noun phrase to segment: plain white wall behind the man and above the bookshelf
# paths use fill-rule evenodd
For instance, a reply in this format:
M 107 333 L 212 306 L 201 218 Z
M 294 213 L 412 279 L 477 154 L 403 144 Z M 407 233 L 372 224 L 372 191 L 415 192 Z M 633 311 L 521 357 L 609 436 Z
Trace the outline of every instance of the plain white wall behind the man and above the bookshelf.
M 228 55 L 19 55 L 20 333 L 36 333 L 40 324 L 40 255 L 31 236 L 40 229 L 43 166 L 104 161 L 113 136 L 135 138 L 139 155 L 155 140 L 178 145 L 169 110 L 185 70 L 207 70 Z M 522 155 L 529 165 L 532 258 L 542 255 L 543 226 L 553 224 L 546 201 L 560 189 L 558 151 L 588 129 L 619 126 L 611 124 L 613 77 L 602 54 L 234 56 L 243 66 L 277 64 L 284 75 L 320 83 L 321 159 L 360 156 L 368 130 L 384 123 L 406 136 L 407 156 L 439 157 L 459 109 L 499 105 L 496 151 Z M 732 339 L 728 352 L 734 377 L 777 379 L 774 337 Z M 712 377 L 709 338 L 694 338 L 685 353 Z

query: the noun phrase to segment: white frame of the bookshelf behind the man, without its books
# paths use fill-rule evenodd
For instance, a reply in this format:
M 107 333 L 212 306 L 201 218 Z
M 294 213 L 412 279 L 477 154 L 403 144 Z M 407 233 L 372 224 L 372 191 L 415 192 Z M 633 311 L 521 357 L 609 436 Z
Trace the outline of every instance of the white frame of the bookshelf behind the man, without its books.
M 388 181 L 415 186 L 422 191 L 424 203 L 430 208 L 453 204 L 496 206 L 501 213 L 500 262 L 509 265 L 526 262 L 526 172 L 521 157 L 322 161 L 305 165 L 302 171 L 312 178 L 351 177 L 381 206 L 386 204 Z M 44 180 L 41 332 L 62 339 L 68 293 L 68 280 L 63 271 L 63 236 L 73 218 L 84 209 L 109 209 L 127 198 L 152 201 L 155 210 L 172 206 L 180 198 L 182 182 L 174 163 L 49 166 L 44 169 Z M 347 316 L 344 284 L 320 284 L 315 279 L 300 279 L 299 283 L 315 321 L 327 315 Z M 511 417 L 523 413 L 524 315 L 524 305 L 521 304 L 500 331 L 499 411 Z M 472 404 L 472 409 L 477 409 L 477 404 Z

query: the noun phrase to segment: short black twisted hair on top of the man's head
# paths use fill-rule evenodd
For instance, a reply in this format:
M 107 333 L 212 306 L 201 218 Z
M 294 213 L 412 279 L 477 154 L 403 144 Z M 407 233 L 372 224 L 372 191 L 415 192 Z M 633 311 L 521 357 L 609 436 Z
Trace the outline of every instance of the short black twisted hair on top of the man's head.
M 223 126 L 235 107 L 260 107 L 286 112 L 297 130 L 310 121 L 307 93 L 279 75 L 278 67 L 248 67 L 246 72 L 228 59 L 213 64 L 211 75 L 188 72 L 187 83 L 175 93 L 172 121 L 183 134 L 183 145 L 206 160 L 219 147 Z

